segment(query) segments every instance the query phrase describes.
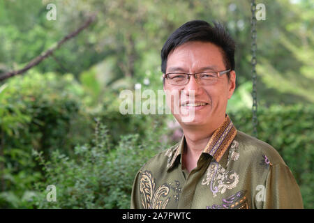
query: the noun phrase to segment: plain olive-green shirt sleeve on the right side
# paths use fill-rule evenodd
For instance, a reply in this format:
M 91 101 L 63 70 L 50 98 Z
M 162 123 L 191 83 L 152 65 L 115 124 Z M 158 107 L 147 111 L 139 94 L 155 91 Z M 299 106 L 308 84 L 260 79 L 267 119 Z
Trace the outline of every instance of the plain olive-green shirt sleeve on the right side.
M 299 186 L 285 164 L 270 167 L 265 192 L 264 209 L 304 208 Z

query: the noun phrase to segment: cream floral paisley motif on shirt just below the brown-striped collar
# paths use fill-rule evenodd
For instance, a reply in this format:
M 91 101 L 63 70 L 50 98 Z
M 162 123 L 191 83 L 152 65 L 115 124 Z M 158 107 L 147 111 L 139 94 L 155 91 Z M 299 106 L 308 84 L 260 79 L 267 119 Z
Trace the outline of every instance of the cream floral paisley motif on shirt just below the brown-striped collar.
M 226 171 L 218 162 L 211 162 L 207 169 L 206 177 L 202 180 L 202 185 L 210 185 L 213 197 L 217 193 L 225 193 L 225 190 L 231 190 L 239 183 L 239 174 L 235 171 Z

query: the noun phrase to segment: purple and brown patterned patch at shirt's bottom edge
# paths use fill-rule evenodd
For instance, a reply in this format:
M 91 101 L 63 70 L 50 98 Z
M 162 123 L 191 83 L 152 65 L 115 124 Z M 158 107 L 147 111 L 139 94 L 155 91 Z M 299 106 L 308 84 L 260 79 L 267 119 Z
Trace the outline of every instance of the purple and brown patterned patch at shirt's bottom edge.
M 236 194 L 223 199 L 221 204 L 214 204 L 207 206 L 207 209 L 248 209 L 248 201 L 244 196 L 246 190 L 240 190 Z

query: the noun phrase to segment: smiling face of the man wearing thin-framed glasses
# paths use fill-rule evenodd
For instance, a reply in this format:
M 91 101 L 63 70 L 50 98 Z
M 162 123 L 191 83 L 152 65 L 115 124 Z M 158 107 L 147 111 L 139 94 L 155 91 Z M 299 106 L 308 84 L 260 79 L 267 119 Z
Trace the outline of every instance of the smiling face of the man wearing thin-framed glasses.
M 203 71 L 223 71 L 229 68 L 223 63 L 223 54 L 219 47 L 212 43 L 188 42 L 174 49 L 167 57 L 168 72 L 195 73 Z M 174 112 L 173 98 L 167 98 L 167 105 L 180 125 L 220 125 L 225 118 L 227 100 L 231 98 L 235 88 L 235 72 L 230 72 L 230 80 L 227 75 L 218 78 L 215 84 L 202 85 L 190 76 L 188 84 L 176 86 L 167 83 L 165 80 L 165 91 L 176 91 L 179 93 L 179 110 Z M 193 95 L 197 105 L 184 106 L 189 95 Z M 184 99 L 183 99 L 184 98 Z M 170 101 L 171 105 L 170 105 Z M 202 103 L 202 104 L 200 104 Z M 204 104 L 205 103 L 205 104 Z M 193 120 L 184 121 L 184 115 L 193 112 Z M 214 127 L 213 126 L 213 127 Z

